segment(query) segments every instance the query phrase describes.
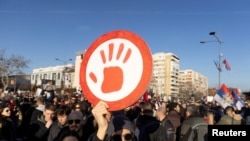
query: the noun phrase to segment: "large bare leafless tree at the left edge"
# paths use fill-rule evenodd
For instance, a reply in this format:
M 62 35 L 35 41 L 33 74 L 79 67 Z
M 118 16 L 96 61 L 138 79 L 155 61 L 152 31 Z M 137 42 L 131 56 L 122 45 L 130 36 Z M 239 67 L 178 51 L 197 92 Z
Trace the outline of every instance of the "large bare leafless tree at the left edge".
M 0 50 L 0 77 L 3 90 L 6 90 L 9 85 L 9 76 L 24 74 L 22 69 L 27 68 L 29 62 L 23 56 L 15 54 L 6 57 L 5 50 Z

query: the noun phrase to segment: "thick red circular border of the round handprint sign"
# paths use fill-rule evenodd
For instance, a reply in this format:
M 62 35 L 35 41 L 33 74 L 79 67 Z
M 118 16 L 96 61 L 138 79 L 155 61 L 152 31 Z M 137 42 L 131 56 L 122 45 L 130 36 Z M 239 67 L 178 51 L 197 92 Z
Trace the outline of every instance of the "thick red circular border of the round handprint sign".
M 110 102 L 97 98 L 87 86 L 86 76 L 88 75 L 86 75 L 86 66 L 91 54 L 95 51 L 96 48 L 98 48 L 102 43 L 115 38 L 123 38 L 129 40 L 139 49 L 143 60 L 143 72 L 141 80 L 138 83 L 137 87 L 133 90 L 133 92 L 131 92 L 128 96 L 121 100 Z M 121 110 L 134 104 L 145 93 L 152 76 L 152 68 L 152 55 L 146 42 L 133 32 L 127 30 L 115 30 L 97 38 L 84 54 L 80 67 L 80 85 L 84 96 L 93 105 L 96 105 L 100 100 L 102 100 L 108 103 L 109 111 Z

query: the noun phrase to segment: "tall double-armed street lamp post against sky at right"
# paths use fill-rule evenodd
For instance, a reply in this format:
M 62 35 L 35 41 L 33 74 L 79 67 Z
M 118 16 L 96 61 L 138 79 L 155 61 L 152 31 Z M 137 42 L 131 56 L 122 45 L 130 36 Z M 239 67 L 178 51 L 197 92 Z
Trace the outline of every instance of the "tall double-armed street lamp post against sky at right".
M 220 88 L 220 84 L 221 84 L 221 58 L 222 58 L 222 54 L 221 54 L 221 44 L 223 43 L 218 36 L 216 36 L 215 32 L 209 32 L 209 35 L 214 36 L 216 38 L 216 40 L 213 41 L 200 41 L 201 44 L 207 43 L 207 42 L 217 42 L 219 43 L 218 46 L 218 64 L 217 64 L 217 70 L 218 70 L 218 89 Z

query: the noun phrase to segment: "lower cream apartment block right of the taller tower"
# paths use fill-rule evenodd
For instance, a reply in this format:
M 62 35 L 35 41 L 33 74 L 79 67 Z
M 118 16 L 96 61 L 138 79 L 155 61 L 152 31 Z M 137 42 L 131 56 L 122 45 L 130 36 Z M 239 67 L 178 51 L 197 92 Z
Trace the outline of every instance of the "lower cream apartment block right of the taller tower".
M 201 97 L 208 95 L 208 79 L 194 70 L 180 70 L 180 97 Z

